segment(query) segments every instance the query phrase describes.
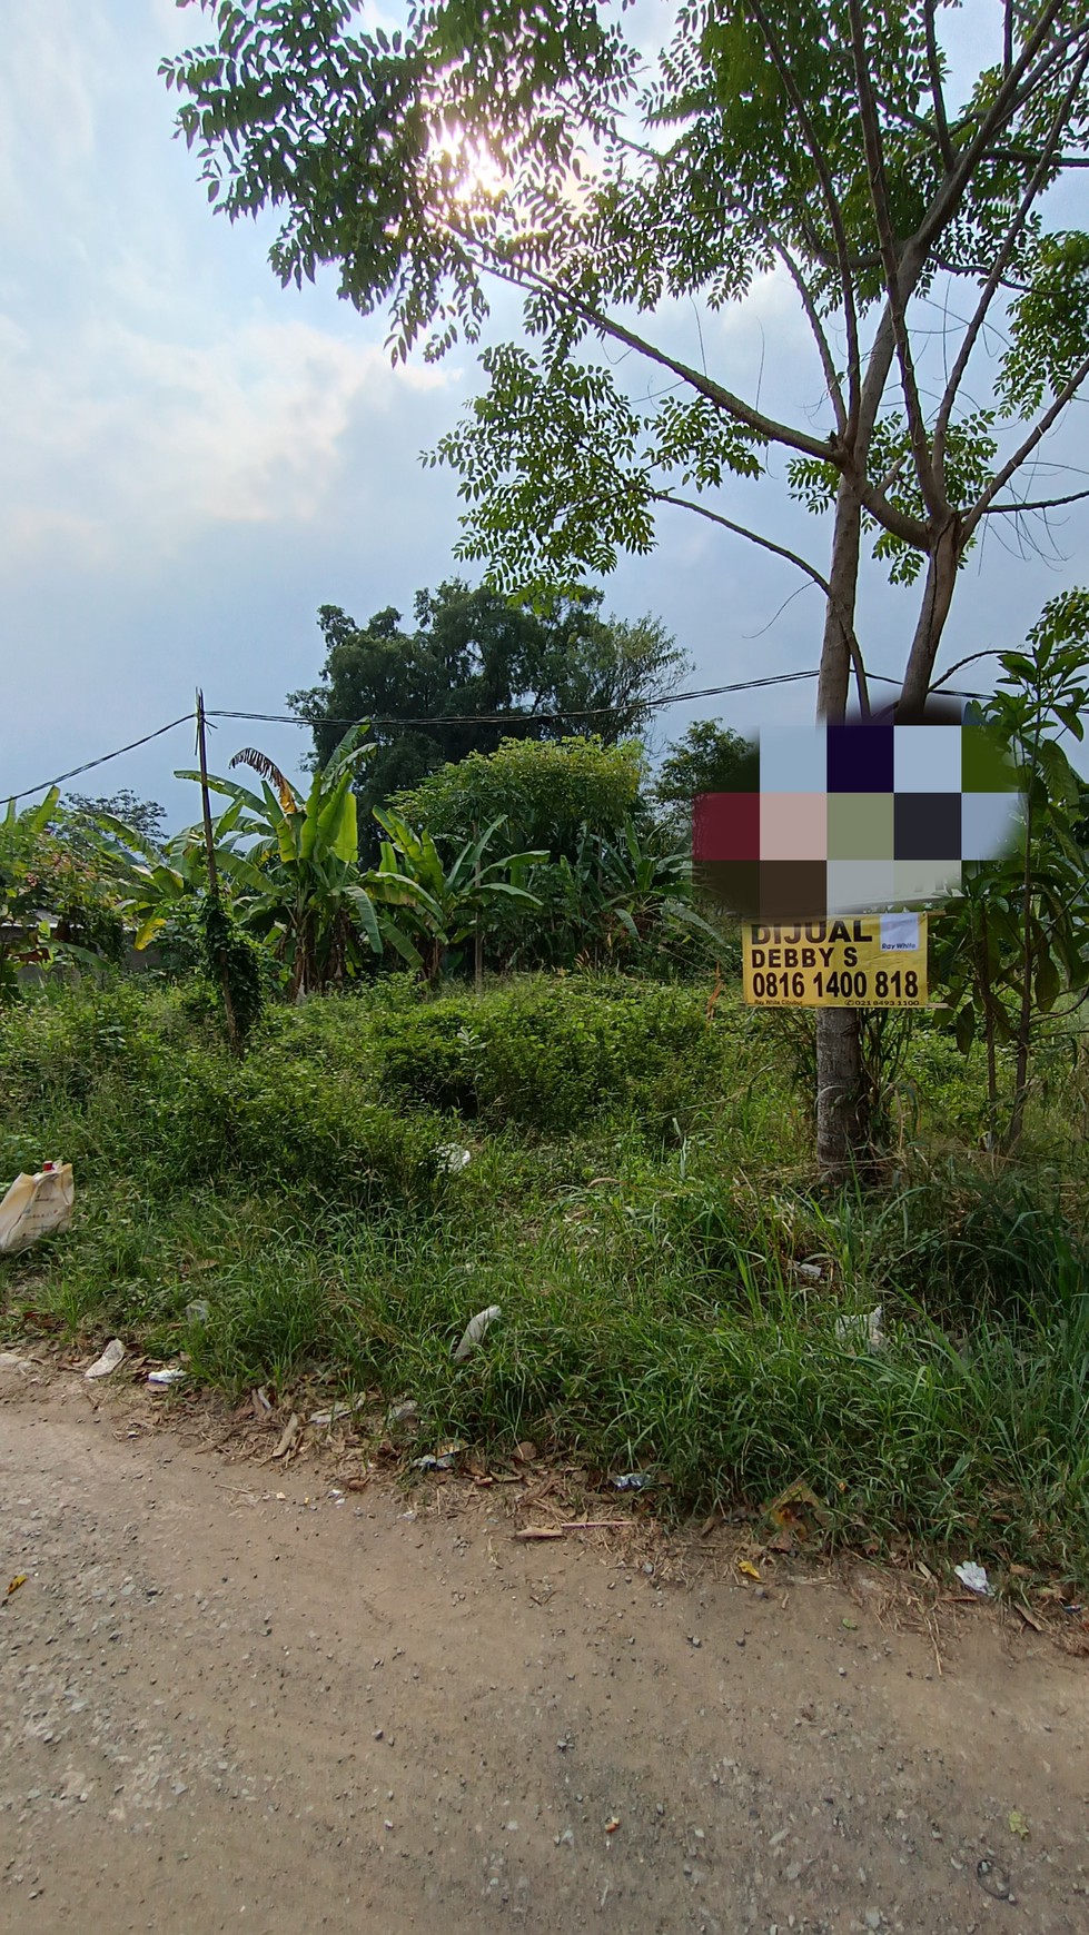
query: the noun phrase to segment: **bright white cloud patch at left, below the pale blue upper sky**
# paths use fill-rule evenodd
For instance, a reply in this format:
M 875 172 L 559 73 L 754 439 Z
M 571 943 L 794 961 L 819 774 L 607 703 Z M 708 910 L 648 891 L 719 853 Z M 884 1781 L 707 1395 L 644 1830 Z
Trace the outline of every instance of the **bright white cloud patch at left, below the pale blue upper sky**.
M 91 321 L 39 350 L 0 317 L 0 567 L 172 555 L 211 522 L 311 521 L 350 426 L 451 377 L 393 372 L 381 348 L 298 319 L 222 327 L 203 344 Z

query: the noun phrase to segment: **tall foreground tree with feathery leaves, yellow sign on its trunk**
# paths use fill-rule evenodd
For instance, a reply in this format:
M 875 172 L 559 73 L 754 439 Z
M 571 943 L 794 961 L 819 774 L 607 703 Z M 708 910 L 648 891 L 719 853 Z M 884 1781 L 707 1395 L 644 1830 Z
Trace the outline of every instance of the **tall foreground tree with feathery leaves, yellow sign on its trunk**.
M 867 708 L 872 542 L 919 588 L 898 714 L 919 718 L 963 561 L 988 519 L 1058 501 L 1019 478 L 1089 377 L 1089 236 L 1052 194 L 1089 159 L 1083 0 L 981 15 L 956 95 L 938 0 L 689 0 L 650 58 L 586 0 L 433 0 L 393 37 L 354 33 L 348 0 L 201 6 L 219 39 L 164 64 L 180 126 L 232 219 L 280 211 L 284 283 L 337 263 L 342 296 L 389 310 L 395 358 L 478 341 L 491 286 L 524 296 L 534 348 L 484 350 L 487 389 L 437 453 L 462 555 L 563 582 L 683 507 L 820 588 L 838 718 L 851 675 Z M 745 304 L 768 273 L 809 327 L 820 422 L 679 346 L 679 304 Z M 783 455 L 820 565 L 721 490 Z M 828 1171 L 865 1128 L 859 1043 L 849 1010 L 820 1012 Z

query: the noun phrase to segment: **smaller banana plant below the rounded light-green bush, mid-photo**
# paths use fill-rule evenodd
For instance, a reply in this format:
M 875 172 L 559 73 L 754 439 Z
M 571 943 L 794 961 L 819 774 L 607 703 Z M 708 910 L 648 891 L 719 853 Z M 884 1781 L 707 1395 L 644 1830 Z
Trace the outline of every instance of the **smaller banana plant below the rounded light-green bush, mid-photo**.
M 368 888 L 385 908 L 397 908 L 412 931 L 389 927 L 387 938 L 402 960 L 418 968 L 433 987 L 443 973 L 447 954 L 462 940 L 484 931 L 497 904 L 540 908 L 540 900 L 524 886 L 532 865 L 547 853 L 505 853 L 486 859 L 495 836 L 505 826 L 505 815 L 474 840 L 466 840 L 456 857 L 447 863 L 429 832 L 416 832 L 393 811 L 373 809 L 385 840 L 379 865 L 368 875 Z M 412 938 L 414 937 L 414 938 Z

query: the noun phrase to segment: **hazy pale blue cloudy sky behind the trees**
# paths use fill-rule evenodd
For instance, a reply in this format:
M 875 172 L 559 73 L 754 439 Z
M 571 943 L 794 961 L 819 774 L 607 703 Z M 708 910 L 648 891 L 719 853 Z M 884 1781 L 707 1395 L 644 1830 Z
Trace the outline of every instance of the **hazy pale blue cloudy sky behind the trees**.
M 648 39 L 667 15 L 640 0 Z M 969 0 L 967 46 L 996 14 Z M 337 300 L 333 273 L 282 290 L 273 226 L 209 209 L 197 161 L 174 139 L 159 60 L 207 37 L 172 0 L 0 0 L 0 797 L 33 788 L 191 710 L 282 712 L 321 670 L 317 606 L 366 621 L 406 615 L 456 567 L 456 478 L 433 447 L 480 387 L 474 352 L 391 368 L 381 317 Z M 663 317 L 669 341 L 764 404 L 812 418 L 820 381 L 787 290 L 766 279 L 745 312 Z M 516 333 L 497 312 L 493 335 Z M 1079 406 L 1085 410 L 1085 404 Z M 1081 418 L 1083 422 L 1083 418 Z M 1079 424 L 1056 459 L 1075 461 Z M 780 488 L 735 480 L 725 515 L 820 561 L 822 532 Z M 1070 484 L 1058 488 L 1072 488 Z M 992 521 L 992 524 L 998 521 Z M 1060 553 L 1021 561 L 998 542 L 967 565 L 942 666 L 1021 642 L 1041 604 L 1089 580 L 1089 507 Z M 1006 534 L 1010 536 L 1010 534 Z M 824 546 L 826 550 L 826 546 Z M 652 557 L 605 580 L 605 610 L 663 619 L 691 685 L 816 666 L 822 600 L 741 540 L 663 513 Z M 783 600 L 791 598 L 785 610 Z M 778 613 L 778 615 L 776 615 Z M 872 671 L 901 668 L 915 598 L 872 573 L 859 635 Z M 810 685 L 685 702 L 751 731 L 809 718 Z M 308 733 L 222 722 L 222 770 L 259 743 L 300 768 Z M 191 728 L 70 786 L 159 799 L 197 817 Z

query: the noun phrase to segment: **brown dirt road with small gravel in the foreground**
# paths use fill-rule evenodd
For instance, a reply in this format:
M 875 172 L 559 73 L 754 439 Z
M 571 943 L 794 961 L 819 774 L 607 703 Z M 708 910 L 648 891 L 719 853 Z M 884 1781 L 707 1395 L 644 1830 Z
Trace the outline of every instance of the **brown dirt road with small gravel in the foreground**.
M 667 1585 L 77 1380 L 0 1407 L 0 1498 L 19 1935 L 1089 1927 L 1089 1668 L 988 1610 L 938 1674 L 874 1577 Z

